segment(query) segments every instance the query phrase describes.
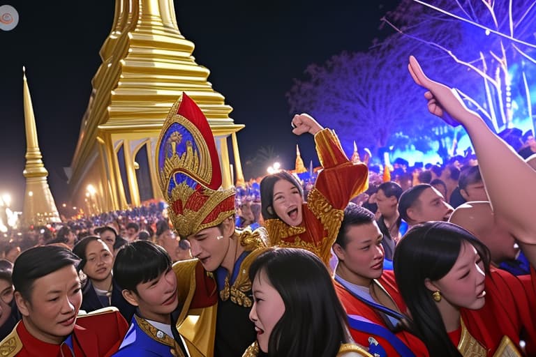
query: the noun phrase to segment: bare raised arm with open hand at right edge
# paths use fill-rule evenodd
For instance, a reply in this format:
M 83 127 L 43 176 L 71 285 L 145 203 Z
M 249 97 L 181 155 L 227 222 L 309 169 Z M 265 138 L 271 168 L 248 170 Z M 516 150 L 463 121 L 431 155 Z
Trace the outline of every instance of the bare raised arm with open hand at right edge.
M 428 89 L 424 96 L 429 111 L 451 125 L 466 128 L 493 211 L 508 222 L 519 241 L 536 244 L 536 190 L 532 189 L 536 172 L 466 107 L 455 89 L 426 77 L 413 56 L 408 68 L 415 82 Z

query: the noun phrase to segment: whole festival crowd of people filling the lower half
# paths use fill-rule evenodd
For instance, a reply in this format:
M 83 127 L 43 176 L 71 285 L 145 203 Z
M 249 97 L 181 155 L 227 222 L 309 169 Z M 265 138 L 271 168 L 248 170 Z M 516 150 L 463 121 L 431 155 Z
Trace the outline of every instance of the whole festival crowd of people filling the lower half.
M 183 94 L 158 139 L 165 202 L 13 234 L 2 356 L 536 356 L 536 220 L 522 158 L 454 89 L 410 74 L 475 155 L 392 178 L 307 114 L 322 169 L 221 188 Z M 254 191 L 254 192 L 253 192 Z

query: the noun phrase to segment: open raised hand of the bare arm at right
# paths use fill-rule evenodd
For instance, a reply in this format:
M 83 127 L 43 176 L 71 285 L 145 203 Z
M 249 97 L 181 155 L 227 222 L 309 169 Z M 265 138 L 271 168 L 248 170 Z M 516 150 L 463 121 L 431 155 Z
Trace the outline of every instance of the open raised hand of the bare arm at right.
M 428 110 L 431 114 L 439 116 L 451 126 L 466 124 L 468 120 L 474 119 L 473 116 L 478 115 L 466 107 L 456 89 L 426 77 L 414 56 L 410 56 L 408 70 L 415 83 L 429 90 L 424 93 L 424 98 L 428 100 Z

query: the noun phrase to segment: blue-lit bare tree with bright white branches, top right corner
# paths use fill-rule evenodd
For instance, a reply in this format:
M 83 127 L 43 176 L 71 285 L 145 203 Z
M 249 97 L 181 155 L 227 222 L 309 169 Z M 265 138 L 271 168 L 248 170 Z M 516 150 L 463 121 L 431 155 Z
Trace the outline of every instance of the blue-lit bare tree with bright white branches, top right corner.
M 536 1 L 403 0 L 382 21 L 400 35 L 386 42 L 419 43 L 427 65 L 496 132 L 533 116 Z

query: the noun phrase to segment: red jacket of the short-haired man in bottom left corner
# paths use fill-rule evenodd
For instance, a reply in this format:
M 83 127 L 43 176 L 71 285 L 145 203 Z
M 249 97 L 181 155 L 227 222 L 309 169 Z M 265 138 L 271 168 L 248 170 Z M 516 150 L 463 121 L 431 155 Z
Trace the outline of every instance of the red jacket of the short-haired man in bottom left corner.
M 117 309 L 82 315 L 76 322 L 65 342 L 50 344 L 31 335 L 20 321 L 0 342 L 0 354 L 6 357 L 111 356 L 128 330 L 128 324 Z

